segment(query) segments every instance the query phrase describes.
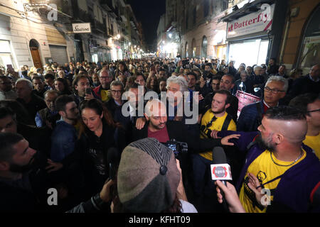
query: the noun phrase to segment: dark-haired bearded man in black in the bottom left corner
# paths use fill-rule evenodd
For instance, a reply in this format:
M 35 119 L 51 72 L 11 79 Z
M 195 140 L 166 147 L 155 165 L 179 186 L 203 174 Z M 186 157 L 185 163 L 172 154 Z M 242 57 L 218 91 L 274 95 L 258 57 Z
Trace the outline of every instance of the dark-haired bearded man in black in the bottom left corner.
M 48 211 L 51 179 L 22 135 L 0 133 L 0 211 Z

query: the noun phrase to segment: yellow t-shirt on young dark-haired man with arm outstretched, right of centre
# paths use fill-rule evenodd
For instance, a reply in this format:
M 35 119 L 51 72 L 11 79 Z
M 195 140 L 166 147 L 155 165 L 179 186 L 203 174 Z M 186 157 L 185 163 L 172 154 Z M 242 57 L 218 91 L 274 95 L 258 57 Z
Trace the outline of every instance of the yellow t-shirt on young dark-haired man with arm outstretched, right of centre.
M 213 130 L 221 131 L 223 127 L 223 123 L 225 122 L 225 118 L 227 117 L 227 112 L 225 115 L 218 117 L 210 127 L 206 128 L 207 124 L 211 121 L 215 114 L 209 109 L 206 111 L 206 114 L 203 115 L 201 119 L 201 131 L 200 131 L 200 138 L 210 138 L 210 133 Z M 235 121 L 231 120 L 228 126 L 228 131 L 236 131 L 237 126 L 235 125 Z M 200 155 L 208 160 L 212 161 L 212 150 L 200 153 Z

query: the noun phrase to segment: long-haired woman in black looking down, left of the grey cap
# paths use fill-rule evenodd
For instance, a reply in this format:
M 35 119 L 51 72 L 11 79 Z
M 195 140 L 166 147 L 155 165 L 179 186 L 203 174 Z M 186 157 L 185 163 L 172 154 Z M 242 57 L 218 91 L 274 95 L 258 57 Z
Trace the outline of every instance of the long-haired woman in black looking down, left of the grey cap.
M 96 193 L 110 177 L 107 162 L 110 150 L 120 155 L 126 142 L 122 127 L 100 100 L 84 100 L 80 104 L 82 123 L 79 143 L 88 193 Z

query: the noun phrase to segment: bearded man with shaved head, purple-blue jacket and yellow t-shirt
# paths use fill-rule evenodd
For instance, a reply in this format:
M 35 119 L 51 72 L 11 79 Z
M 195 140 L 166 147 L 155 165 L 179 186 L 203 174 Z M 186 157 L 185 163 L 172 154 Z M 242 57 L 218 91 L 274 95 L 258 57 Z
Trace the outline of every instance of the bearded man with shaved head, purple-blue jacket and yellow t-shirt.
M 237 132 L 240 139 L 235 145 L 242 151 L 248 149 L 237 184 L 245 211 L 320 211 L 320 164 L 302 144 L 307 129 L 303 111 L 279 106 L 266 111 L 259 132 Z M 218 136 L 233 133 L 219 132 Z

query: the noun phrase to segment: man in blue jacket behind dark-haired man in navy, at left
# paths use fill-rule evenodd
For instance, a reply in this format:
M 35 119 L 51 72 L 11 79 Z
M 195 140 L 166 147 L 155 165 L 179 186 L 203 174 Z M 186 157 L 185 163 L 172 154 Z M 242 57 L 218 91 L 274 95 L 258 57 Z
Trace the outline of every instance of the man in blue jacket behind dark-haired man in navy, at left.
M 41 109 L 36 114 L 36 126 L 38 128 L 48 126 L 48 128 L 55 128 L 55 122 L 60 119 L 58 111 L 55 110 L 55 99 L 58 98 L 58 92 L 55 90 L 48 90 L 45 92 L 44 97 L 47 107 Z

